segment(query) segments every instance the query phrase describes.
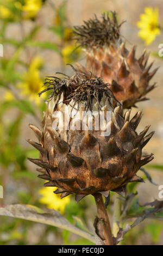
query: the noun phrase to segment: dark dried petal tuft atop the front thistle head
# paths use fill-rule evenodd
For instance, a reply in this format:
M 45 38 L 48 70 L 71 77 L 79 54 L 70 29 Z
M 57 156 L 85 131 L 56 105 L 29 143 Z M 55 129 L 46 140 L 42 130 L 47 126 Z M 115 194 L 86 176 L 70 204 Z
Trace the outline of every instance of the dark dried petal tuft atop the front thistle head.
M 109 100 L 111 107 L 114 108 L 117 106 L 118 102 L 109 89 L 109 84 L 104 82 L 100 77 L 92 78 L 91 72 L 89 72 L 89 75 L 87 76 L 80 71 L 76 71 L 76 74 L 72 77 L 66 75 L 64 78 L 47 77 L 44 86 L 46 89 L 42 90 L 42 92 L 39 93 L 39 96 L 48 90 L 52 90 L 52 94 L 49 96 L 48 101 L 52 100 L 53 97 L 57 95 L 59 96 L 59 100 L 61 100 L 62 95 L 62 102 L 66 105 L 70 104 L 70 101 L 72 100 L 74 101 L 74 105 L 79 102 L 84 102 L 84 110 L 92 109 L 93 99 L 96 100 L 99 109 L 101 109 L 103 106 L 99 102 L 104 95 Z

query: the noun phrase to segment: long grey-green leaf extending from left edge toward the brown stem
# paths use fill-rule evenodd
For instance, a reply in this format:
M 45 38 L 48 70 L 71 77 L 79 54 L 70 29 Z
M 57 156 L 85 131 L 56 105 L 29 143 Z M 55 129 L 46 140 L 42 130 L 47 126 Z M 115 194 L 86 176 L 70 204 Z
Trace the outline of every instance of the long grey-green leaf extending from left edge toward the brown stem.
M 79 236 L 84 237 L 87 240 L 95 243 L 95 237 L 86 233 L 83 230 L 72 225 L 64 216 L 62 216 L 58 211 L 51 210 L 49 212 L 41 212 L 41 209 L 35 208 L 33 205 L 6 205 L 0 207 L 0 215 L 8 216 L 14 218 L 21 218 L 23 220 L 39 222 L 47 225 L 52 225 L 54 227 L 66 229 L 73 232 Z

